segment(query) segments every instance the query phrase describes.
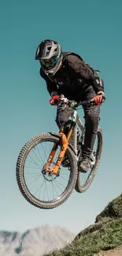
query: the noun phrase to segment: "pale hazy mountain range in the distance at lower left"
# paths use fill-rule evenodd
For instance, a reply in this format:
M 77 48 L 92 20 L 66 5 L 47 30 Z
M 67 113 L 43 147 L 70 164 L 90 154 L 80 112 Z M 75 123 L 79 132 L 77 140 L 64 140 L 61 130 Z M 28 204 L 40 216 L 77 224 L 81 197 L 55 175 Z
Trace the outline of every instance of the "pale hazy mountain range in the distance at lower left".
M 0 232 L 0 256 L 42 256 L 71 243 L 76 234 L 67 228 L 43 225 L 24 233 Z

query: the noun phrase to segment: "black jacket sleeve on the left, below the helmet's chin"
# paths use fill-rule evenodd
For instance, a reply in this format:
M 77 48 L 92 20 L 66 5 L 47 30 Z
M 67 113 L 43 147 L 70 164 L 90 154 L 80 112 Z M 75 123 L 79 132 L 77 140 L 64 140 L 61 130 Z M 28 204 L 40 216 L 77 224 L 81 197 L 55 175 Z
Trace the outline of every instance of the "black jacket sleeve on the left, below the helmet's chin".
M 51 81 L 48 78 L 48 76 L 46 76 L 46 74 L 43 72 L 43 69 L 40 69 L 40 76 L 42 76 L 43 79 L 46 81 L 46 88 L 49 94 L 51 95 L 53 91 L 57 91 L 57 94 L 58 94 L 57 84 Z

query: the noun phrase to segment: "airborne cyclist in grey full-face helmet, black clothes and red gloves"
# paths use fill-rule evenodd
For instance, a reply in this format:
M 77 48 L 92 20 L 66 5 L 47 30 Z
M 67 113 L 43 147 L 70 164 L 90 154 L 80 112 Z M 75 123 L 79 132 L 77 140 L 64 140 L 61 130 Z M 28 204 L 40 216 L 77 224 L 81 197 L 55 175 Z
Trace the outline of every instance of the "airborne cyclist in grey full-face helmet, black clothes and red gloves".
M 98 76 L 98 71 L 78 54 L 62 52 L 60 44 L 54 40 L 43 40 L 37 47 L 35 59 L 40 62 L 40 76 L 46 81 L 51 105 L 57 104 L 61 94 L 65 95 L 65 99 L 76 102 L 94 98 L 94 106 L 83 106 L 86 129 L 79 171 L 87 173 L 98 131 L 100 105 L 105 101 L 104 82 Z

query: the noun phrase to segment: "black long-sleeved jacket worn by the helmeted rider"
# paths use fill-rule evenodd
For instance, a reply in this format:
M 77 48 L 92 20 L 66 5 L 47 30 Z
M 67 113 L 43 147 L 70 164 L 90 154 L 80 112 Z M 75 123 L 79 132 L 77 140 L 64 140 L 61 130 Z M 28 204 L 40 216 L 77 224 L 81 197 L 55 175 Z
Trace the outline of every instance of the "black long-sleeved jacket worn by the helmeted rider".
M 94 87 L 98 91 L 104 91 L 103 80 L 94 75 L 94 72 L 77 54 L 63 53 L 61 69 L 54 76 L 46 76 L 40 69 L 40 76 L 46 80 L 46 87 L 50 95 L 52 91 L 58 91 L 68 99 L 80 100 L 87 87 Z M 80 97 L 79 97 L 80 95 Z

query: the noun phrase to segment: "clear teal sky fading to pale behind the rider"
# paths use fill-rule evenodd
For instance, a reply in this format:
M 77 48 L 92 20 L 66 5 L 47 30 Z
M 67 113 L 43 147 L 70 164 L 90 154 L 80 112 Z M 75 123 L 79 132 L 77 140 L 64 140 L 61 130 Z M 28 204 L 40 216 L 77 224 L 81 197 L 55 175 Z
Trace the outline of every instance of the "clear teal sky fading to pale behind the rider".
M 24 232 L 41 224 L 79 232 L 122 192 L 122 1 L 0 0 L 0 230 Z M 20 194 L 16 162 L 34 135 L 57 131 L 45 81 L 35 61 L 43 39 L 74 51 L 105 80 L 106 101 L 100 126 L 104 150 L 94 182 L 84 194 L 74 191 L 54 210 L 39 210 Z M 79 112 L 81 117 L 83 111 Z

